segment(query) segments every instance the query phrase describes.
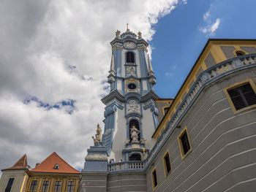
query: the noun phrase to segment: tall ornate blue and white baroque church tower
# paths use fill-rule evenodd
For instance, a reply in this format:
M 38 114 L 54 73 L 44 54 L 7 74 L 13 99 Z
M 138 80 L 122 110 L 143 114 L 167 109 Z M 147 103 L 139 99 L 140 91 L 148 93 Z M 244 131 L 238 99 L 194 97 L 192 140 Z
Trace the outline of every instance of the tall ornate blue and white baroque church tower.
M 147 54 L 148 43 L 141 33 L 129 30 L 110 42 L 112 59 L 108 82 L 110 93 L 102 99 L 105 128 L 102 146 L 108 159 L 140 161 L 141 155 L 154 145 L 152 134 L 158 126 L 154 100 L 156 78 Z

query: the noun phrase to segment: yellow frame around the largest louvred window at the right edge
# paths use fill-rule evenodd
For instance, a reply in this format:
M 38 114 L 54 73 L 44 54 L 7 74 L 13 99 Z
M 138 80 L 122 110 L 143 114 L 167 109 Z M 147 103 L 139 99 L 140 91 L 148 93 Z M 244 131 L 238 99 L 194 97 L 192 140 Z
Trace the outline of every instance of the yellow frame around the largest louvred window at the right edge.
M 250 105 L 248 107 L 244 107 L 241 110 L 236 110 L 236 107 L 234 106 L 233 101 L 230 98 L 230 94 L 228 94 L 228 92 L 227 92 L 230 89 L 240 87 L 241 85 L 245 85 L 248 82 L 252 86 L 252 90 L 255 91 L 255 93 L 256 93 L 256 86 L 255 86 L 255 83 L 252 81 L 252 79 L 244 80 L 244 81 L 241 81 L 241 82 L 236 82 L 233 85 L 230 85 L 229 87 L 223 89 L 225 95 L 227 96 L 227 101 L 229 102 L 230 107 L 233 110 L 234 114 L 237 114 L 239 112 L 243 112 L 245 110 L 249 110 L 249 109 L 252 109 L 253 107 L 256 107 L 256 104 L 253 104 L 253 105 Z

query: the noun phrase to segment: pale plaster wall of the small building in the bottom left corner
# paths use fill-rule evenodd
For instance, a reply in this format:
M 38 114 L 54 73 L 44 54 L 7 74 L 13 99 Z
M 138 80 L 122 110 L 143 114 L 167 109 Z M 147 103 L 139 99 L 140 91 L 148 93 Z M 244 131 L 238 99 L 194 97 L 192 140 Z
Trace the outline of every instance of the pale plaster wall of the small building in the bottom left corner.
M 0 191 L 4 191 L 9 178 L 14 178 L 11 191 L 24 192 L 26 188 L 26 182 L 28 180 L 28 175 L 24 170 L 5 170 L 1 175 L 0 179 Z

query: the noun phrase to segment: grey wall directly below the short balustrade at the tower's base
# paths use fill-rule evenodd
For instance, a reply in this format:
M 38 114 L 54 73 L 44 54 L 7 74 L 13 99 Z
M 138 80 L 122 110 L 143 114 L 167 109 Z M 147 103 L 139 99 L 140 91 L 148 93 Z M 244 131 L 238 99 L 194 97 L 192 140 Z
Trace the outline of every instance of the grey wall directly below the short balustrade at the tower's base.
M 145 172 L 109 174 L 107 183 L 108 192 L 147 191 Z

